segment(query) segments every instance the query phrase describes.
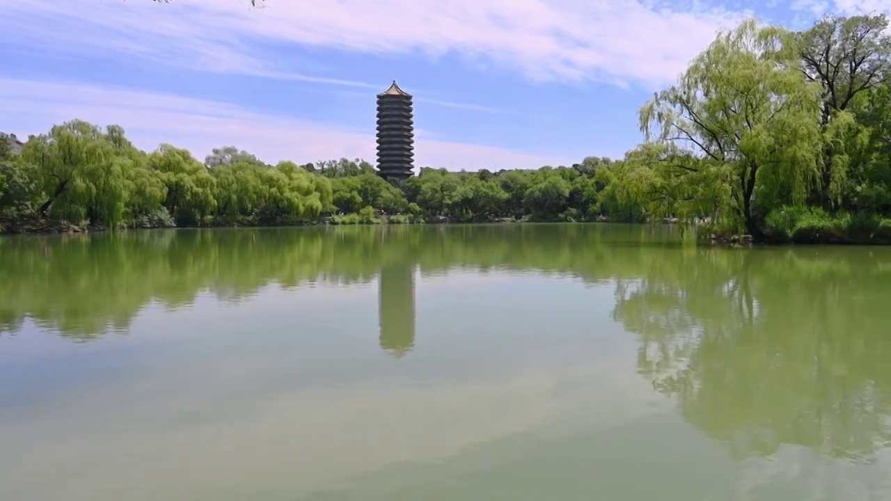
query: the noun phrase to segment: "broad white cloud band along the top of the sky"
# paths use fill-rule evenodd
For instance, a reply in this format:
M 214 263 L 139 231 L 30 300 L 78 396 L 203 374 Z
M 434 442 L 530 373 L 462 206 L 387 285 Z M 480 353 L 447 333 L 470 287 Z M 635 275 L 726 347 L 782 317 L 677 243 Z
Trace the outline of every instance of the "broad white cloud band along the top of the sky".
M 10 43 L 53 51 L 127 53 L 205 70 L 310 81 L 339 78 L 315 63 L 273 62 L 277 51 L 257 42 L 360 53 L 458 53 L 534 80 L 597 78 L 656 86 L 673 80 L 715 30 L 742 17 L 698 2 L 662 6 L 638 0 L 266 4 L 249 9 L 238 0 L 15 0 L 4 5 L 0 32 Z

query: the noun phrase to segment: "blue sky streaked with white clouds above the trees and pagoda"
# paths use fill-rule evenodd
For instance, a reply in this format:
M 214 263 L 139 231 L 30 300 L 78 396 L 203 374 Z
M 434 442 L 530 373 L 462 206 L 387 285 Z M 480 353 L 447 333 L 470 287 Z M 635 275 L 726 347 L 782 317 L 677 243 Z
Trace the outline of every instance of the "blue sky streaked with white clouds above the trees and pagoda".
M 803 27 L 891 0 L 12 0 L 0 131 L 86 119 L 203 158 L 374 158 L 374 95 L 415 96 L 416 165 L 537 168 L 621 158 L 636 111 L 715 30 Z

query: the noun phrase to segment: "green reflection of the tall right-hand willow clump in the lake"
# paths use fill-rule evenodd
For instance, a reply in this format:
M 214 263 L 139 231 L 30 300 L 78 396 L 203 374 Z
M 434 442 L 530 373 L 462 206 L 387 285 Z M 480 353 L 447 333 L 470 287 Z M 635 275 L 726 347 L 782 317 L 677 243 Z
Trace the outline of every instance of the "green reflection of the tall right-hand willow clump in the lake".
M 871 462 L 891 439 L 891 268 L 848 252 L 699 252 L 619 281 L 613 316 L 640 374 L 733 454 Z

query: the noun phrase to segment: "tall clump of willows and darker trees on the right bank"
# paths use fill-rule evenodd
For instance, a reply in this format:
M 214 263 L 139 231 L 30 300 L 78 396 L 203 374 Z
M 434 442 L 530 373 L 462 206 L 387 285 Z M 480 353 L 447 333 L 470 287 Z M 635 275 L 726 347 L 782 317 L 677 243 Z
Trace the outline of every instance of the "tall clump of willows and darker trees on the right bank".
M 884 15 L 719 35 L 641 110 L 620 185 L 654 216 L 797 241 L 891 236 Z

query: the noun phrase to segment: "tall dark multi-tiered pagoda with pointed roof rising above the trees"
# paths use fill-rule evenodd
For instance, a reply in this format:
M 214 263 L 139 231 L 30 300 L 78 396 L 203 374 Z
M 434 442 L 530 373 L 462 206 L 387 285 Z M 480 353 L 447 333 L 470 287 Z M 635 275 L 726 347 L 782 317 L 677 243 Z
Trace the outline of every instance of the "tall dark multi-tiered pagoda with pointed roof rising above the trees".
M 385 179 L 413 176 L 414 115 L 412 95 L 393 80 L 378 94 L 378 174 Z

